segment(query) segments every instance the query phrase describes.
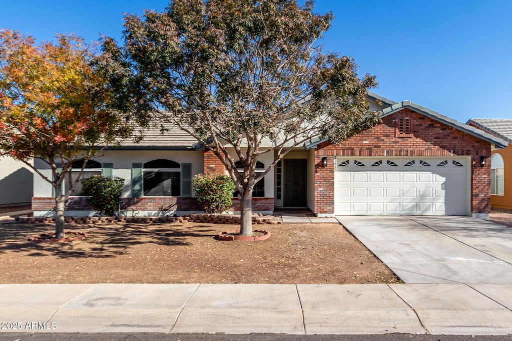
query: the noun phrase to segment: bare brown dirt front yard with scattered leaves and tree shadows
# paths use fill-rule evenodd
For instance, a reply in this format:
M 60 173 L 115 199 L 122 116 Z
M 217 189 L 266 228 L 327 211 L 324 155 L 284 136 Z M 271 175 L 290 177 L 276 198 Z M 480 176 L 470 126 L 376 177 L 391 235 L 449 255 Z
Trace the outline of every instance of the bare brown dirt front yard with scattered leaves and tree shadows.
M 33 244 L 51 224 L 0 225 L 0 283 L 395 283 L 342 225 L 255 225 L 258 242 L 219 241 L 234 225 L 68 224 L 88 238 Z

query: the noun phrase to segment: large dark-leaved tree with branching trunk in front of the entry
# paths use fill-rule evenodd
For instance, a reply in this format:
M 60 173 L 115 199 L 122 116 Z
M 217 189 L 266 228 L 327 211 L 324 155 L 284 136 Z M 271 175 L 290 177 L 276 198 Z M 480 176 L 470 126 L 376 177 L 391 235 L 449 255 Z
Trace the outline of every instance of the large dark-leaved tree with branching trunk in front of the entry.
M 173 122 L 213 151 L 240 192 L 251 234 L 251 192 L 293 147 L 343 141 L 376 123 L 351 57 L 318 43 L 333 16 L 296 0 L 174 0 L 127 15 L 124 45 L 105 38 L 111 82 L 141 115 Z M 161 110 L 165 110 L 162 115 Z M 259 155 L 273 152 L 265 172 Z M 242 167 L 237 167 L 240 161 Z

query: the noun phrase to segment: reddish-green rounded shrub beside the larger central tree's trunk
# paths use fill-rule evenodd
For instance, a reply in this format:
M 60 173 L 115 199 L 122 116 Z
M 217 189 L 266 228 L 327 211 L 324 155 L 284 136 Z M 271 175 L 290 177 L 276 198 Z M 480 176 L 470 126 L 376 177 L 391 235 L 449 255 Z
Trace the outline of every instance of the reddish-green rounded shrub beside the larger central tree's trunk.
M 206 213 L 223 213 L 232 203 L 234 184 L 223 174 L 198 174 L 192 179 L 197 202 Z

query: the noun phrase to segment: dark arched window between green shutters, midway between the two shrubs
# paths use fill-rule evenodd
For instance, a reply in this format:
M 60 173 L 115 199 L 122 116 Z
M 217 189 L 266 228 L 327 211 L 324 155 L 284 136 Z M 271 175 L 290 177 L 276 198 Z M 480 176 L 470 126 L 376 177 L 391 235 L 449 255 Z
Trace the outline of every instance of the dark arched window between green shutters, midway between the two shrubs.
M 143 165 L 144 196 L 181 196 L 181 165 L 158 159 Z

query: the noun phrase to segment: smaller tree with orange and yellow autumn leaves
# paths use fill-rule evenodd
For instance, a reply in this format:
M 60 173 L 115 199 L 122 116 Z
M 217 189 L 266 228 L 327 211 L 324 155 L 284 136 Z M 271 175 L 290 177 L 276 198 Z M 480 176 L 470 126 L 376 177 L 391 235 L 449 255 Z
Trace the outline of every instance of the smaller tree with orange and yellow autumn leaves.
M 108 68 L 99 69 L 98 58 L 94 45 L 74 35 L 36 44 L 31 36 L 0 31 L 0 155 L 24 162 L 53 186 L 56 238 L 65 237 L 65 203 L 81 175 L 72 180 L 73 162 L 82 160 L 83 172 L 90 158 L 133 131 L 126 124 L 132 118 L 112 108 Z M 31 158 L 47 163 L 52 176 Z

